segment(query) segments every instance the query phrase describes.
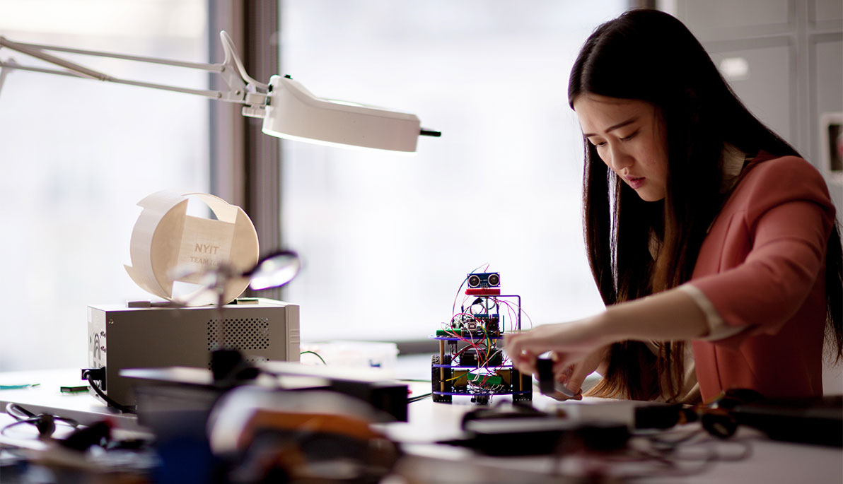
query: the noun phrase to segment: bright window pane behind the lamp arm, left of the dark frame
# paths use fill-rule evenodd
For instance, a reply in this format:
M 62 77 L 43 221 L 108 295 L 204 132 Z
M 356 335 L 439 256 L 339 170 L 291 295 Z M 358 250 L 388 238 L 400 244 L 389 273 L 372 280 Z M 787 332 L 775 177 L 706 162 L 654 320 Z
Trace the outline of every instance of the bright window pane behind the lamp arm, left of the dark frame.
M 0 0 L 9 40 L 207 61 L 202 0 Z M 115 77 L 203 88 L 207 73 L 56 53 Z M 0 49 L 0 59 L 55 68 Z M 82 367 L 87 306 L 150 299 L 128 277 L 137 202 L 208 190 L 205 98 L 19 70 L 0 91 L 0 370 Z

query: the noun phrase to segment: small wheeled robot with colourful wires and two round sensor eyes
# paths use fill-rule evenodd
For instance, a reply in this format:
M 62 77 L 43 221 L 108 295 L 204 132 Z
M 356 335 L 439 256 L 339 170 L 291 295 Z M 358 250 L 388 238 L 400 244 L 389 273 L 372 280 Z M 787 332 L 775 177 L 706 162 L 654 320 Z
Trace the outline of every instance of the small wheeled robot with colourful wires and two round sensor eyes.
M 532 400 L 530 375 L 521 375 L 503 354 L 505 330 L 521 329 L 521 296 L 501 295 L 497 272 L 468 274 L 460 290 L 465 285 L 459 312 L 431 336 L 439 342 L 439 354 L 431 357 L 433 402 L 470 396 L 471 402 L 487 404 L 495 395 L 512 395 L 513 402 Z M 514 326 L 506 327 L 506 316 Z

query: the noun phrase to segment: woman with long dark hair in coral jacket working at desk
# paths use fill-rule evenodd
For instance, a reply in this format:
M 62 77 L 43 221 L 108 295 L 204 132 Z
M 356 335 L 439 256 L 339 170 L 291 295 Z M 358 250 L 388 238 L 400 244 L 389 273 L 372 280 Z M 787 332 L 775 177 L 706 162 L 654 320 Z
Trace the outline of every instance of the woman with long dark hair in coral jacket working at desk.
M 591 395 L 822 395 L 824 336 L 835 359 L 843 348 L 843 263 L 817 170 L 749 113 L 667 13 L 633 10 L 595 29 L 568 100 L 585 138 L 586 247 L 607 309 L 508 338 L 518 369 L 534 373 L 553 351 L 575 393 L 598 370 Z

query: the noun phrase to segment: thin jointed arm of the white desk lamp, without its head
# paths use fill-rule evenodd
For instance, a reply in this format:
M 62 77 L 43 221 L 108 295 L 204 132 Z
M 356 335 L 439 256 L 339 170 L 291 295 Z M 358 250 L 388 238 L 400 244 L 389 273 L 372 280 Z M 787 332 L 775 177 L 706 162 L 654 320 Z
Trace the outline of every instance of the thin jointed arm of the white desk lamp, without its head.
M 6 47 L 12 51 L 18 51 L 27 56 L 35 57 L 42 61 L 49 62 L 56 66 L 61 66 L 67 71 L 59 71 L 55 69 L 46 69 L 35 66 L 23 66 L 17 62 L 8 60 L 0 60 L 0 80 L 3 79 L 3 67 L 8 69 L 19 69 L 22 71 L 42 72 L 46 74 L 56 74 L 61 76 L 72 77 L 87 77 L 104 82 L 115 82 L 118 84 L 127 84 L 131 86 L 139 86 L 142 88 L 163 89 L 176 93 L 187 93 L 203 96 L 206 98 L 218 99 L 227 101 L 229 103 L 249 104 L 253 105 L 254 109 L 260 110 L 266 105 L 266 93 L 260 93 L 258 90 L 266 91 L 268 85 L 263 82 L 255 81 L 246 73 L 243 62 L 240 61 L 237 51 L 234 48 L 234 42 L 231 37 L 223 30 L 220 32 L 220 40 L 223 42 L 224 60 L 219 64 L 207 64 L 201 62 L 188 61 L 173 61 L 169 59 L 159 59 L 156 57 L 146 56 L 131 56 L 126 54 L 117 54 L 114 52 L 101 51 L 86 51 L 83 49 L 72 49 L 68 47 L 61 47 L 57 45 L 41 45 L 41 44 L 26 44 L 23 42 L 15 42 L 0 36 L 0 48 Z M 155 82 L 132 81 L 130 79 L 121 79 L 118 77 L 111 77 L 103 72 L 95 71 L 89 67 L 82 66 L 76 62 L 67 61 L 61 57 L 48 54 L 46 51 L 67 52 L 72 54 L 81 54 L 84 56 L 108 57 L 112 59 L 121 59 L 125 61 L 139 61 L 148 62 L 152 64 L 159 64 L 164 66 L 186 67 L 191 69 L 199 69 L 207 72 L 215 72 L 223 77 L 223 82 L 228 86 L 226 91 L 213 91 L 210 89 L 193 89 L 180 88 L 176 86 L 168 86 L 165 84 L 158 84 Z M 0 82 L 2 88 L 2 82 Z

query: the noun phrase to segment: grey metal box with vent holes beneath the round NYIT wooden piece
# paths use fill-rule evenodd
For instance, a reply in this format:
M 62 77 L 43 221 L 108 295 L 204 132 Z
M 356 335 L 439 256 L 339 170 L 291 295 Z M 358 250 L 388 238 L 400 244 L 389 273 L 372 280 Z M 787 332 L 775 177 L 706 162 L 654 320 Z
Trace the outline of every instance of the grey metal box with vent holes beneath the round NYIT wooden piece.
M 235 300 L 223 306 L 222 317 L 221 323 L 215 306 L 88 306 L 89 368 L 105 368 L 100 389 L 111 400 L 131 406 L 137 380 L 121 377 L 120 370 L 209 369 L 211 352 L 223 342 L 226 348 L 239 349 L 249 362 L 299 360 L 298 305 L 264 298 Z M 99 399 L 93 388 L 89 391 Z

